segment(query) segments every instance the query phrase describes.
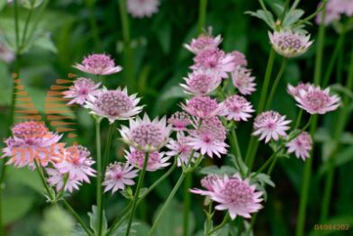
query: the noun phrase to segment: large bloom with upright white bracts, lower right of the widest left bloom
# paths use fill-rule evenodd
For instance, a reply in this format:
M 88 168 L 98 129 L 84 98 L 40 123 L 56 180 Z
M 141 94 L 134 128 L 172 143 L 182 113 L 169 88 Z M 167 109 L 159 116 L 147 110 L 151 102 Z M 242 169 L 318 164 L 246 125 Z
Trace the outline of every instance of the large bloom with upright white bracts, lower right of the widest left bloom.
M 169 139 L 171 125 L 167 125 L 166 117 L 153 121 L 145 113 L 143 120 L 137 117 L 130 120 L 130 127 L 122 126 L 120 133 L 122 140 L 138 150 L 150 151 L 159 150 L 164 147 Z

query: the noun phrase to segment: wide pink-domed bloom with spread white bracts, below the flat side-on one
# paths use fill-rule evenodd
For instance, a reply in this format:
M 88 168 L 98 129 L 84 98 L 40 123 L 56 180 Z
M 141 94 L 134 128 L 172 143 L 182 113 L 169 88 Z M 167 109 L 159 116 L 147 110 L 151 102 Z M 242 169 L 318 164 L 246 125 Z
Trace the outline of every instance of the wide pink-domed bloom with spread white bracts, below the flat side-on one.
M 100 117 L 105 117 L 110 123 L 116 120 L 128 120 L 140 113 L 143 106 L 138 106 L 140 98 L 137 94 L 128 95 L 126 87 L 115 90 L 101 89 L 98 95 L 90 96 L 85 107 Z

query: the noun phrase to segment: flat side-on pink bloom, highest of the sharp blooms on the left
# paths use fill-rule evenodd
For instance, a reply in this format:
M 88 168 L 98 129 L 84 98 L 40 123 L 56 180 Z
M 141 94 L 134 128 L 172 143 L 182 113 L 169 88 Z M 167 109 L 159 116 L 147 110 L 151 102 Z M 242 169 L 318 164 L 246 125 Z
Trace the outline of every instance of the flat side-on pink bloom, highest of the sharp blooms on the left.
M 81 64 L 73 66 L 83 72 L 93 75 L 112 75 L 122 70 L 121 66 L 115 66 L 115 62 L 107 54 L 91 54 Z

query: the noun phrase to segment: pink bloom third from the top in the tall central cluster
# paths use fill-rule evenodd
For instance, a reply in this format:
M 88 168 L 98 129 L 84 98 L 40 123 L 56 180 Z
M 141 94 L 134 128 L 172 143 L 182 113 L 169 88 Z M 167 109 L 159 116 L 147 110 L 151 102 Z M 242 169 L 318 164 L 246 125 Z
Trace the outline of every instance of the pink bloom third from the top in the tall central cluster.
M 186 84 L 180 84 L 180 86 L 185 89 L 186 94 L 208 95 L 221 84 L 222 77 L 212 70 L 198 69 L 188 74 L 184 80 Z

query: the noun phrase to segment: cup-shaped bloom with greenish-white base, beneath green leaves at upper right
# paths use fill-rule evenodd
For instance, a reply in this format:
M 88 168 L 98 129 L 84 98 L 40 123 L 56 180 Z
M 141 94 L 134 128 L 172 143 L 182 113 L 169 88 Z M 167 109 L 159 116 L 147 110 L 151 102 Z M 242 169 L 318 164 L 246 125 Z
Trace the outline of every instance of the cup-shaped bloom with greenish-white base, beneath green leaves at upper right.
M 285 58 L 294 58 L 303 55 L 312 45 L 310 35 L 304 35 L 299 32 L 268 32 L 268 37 L 274 50 Z

